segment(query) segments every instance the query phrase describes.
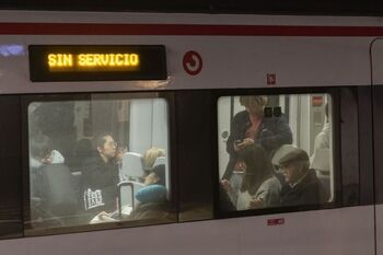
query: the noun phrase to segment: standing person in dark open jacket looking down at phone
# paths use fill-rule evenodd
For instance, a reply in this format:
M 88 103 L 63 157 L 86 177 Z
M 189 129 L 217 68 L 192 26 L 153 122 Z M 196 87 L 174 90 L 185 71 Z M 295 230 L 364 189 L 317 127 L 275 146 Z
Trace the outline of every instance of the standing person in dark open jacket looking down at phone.
M 223 179 L 230 181 L 233 171 L 243 172 L 246 169 L 239 154 L 245 149 L 260 146 L 269 157 L 282 144 L 292 143 L 292 134 L 283 115 L 264 116 L 267 104 L 265 95 L 240 96 L 241 105 L 245 106 L 233 117 L 231 134 L 227 141 L 230 155 Z

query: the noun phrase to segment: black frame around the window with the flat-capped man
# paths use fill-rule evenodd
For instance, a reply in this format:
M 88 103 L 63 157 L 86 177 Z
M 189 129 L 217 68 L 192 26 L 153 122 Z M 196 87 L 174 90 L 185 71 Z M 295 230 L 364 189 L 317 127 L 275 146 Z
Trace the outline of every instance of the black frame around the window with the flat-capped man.
M 219 152 L 218 152 L 218 100 L 222 96 L 239 96 L 239 95 L 288 95 L 288 94 L 329 94 L 332 97 L 333 108 L 333 167 L 334 167 L 334 200 L 325 204 L 314 205 L 300 205 L 300 206 L 287 206 L 287 207 L 274 207 L 274 208 L 262 208 L 262 209 L 249 209 L 239 211 L 222 211 L 219 205 Z M 213 188 L 214 188 L 214 218 L 237 218 L 248 216 L 264 216 L 275 213 L 288 213 L 297 211 L 309 211 L 309 210 L 323 210 L 334 209 L 343 206 L 343 182 L 341 182 L 341 160 L 340 159 L 340 93 L 339 88 L 272 88 L 272 89 L 237 89 L 237 90 L 218 90 L 213 93 L 212 106 L 216 109 L 212 121 L 212 129 L 214 129 L 216 136 L 212 138 L 213 144 Z M 358 148 L 359 149 L 359 148 Z M 358 169 L 359 171 L 359 169 Z

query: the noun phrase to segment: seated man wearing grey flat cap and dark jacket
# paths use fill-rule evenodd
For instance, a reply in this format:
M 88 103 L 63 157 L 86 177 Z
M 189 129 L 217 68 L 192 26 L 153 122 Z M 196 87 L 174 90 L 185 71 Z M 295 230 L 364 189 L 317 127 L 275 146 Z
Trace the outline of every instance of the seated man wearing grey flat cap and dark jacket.
M 304 150 L 282 146 L 272 159 L 279 166 L 286 184 L 280 193 L 281 206 L 314 205 L 323 202 L 323 187 Z

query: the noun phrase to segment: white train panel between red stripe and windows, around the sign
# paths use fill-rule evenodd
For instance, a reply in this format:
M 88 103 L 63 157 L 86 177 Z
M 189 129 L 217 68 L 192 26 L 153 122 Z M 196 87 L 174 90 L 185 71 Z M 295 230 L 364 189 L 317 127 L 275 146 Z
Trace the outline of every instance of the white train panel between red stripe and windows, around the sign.
M 0 36 L 0 45 L 22 45 L 23 56 L 0 56 L 0 93 L 130 91 L 153 89 L 267 88 L 275 73 L 281 86 L 369 85 L 373 38 L 265 36 Z M 165 45 L 167 81 L 31 82 L 30 44 Z M 204 67 L 189 76 L 182 59 L 199 53 Z

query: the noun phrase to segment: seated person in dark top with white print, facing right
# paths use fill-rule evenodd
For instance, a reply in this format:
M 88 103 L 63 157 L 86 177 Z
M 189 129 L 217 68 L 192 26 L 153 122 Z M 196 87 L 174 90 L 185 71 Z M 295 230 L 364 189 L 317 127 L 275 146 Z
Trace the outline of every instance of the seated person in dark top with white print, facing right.
M 103 132 L 95 137 L 96 154 L 82 166 L 82 194 L 84 210 L 90 219 L 98 213 L 112 213 L 117 209 L 118 162 L 113 137 Z

